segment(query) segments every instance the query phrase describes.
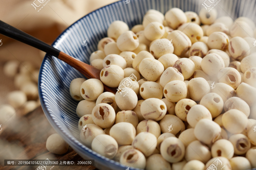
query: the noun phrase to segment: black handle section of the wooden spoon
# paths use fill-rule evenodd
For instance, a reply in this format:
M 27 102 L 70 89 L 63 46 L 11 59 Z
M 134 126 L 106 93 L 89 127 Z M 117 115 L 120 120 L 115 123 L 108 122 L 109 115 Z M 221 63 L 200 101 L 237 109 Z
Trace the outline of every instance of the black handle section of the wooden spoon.
M 58 58 L 60 50 L 0 20 L 0 34 L 38 48 Z

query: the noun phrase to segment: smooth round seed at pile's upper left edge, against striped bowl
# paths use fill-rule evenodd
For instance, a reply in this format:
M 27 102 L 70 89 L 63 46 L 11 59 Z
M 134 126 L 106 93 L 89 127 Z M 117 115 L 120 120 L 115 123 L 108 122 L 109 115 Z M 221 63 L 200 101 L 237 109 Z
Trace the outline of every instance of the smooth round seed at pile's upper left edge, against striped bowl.
M 107 35 L 113 40 L 117 40 L 117 38 L 124 33 L 125 31 L 129 31 L 128 25 L 123 21 L 114 21 L 108 27 Z M 108 55 L 108 54 L 106 54 Z

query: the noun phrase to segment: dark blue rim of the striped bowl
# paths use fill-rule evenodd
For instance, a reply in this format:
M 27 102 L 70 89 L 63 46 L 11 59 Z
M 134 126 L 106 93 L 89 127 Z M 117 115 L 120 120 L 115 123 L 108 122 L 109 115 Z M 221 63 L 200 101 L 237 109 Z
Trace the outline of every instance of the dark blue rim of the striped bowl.
M 113 3 L 110 3 L 108 5 L 105 5 L 103 7 L 97 8 L 96 10 L 93 10 L 92 12 L 84 15 L 79 20 L 75 21 L 73 24 L 71 24 L 69 27 L 67 27 L 64 31 L 62 31 L 61 34 L 53 41 L 51 46 L 54 46 L 60 40 L 61 36 L 63 36 L 72 26 L 74 26 L 75 24 L 80 22 L 84 17 L 86 17 L 86 16 L 88 16 L 88 15 L 90 15 L 92 13 L 95 13 L 96 11 L 98 11 L 100 9 L 106 8 L 106 7 L 110 6 L 110 5 L 113 5 L 113 4 L 116 4 L 116 3 L 120 3 L 121 1 L 123 1 L 123 0 L 119 0 L 119 1 L 116 1 L 116 2 L 113 2 Z M 100 165 L 103 165 L 103 166 L 108 165 L 108 167 L 110 169 L 120 169 L 120 167 L 127 168 L 128 166 L 122 165 L 121 163 L 119 163 L 119 162 L 117 162 L 115 160 L 112 160 L 112 159 L 109 159 L 109 158 L 105 158 L 105 157 L 104 157 L 105 159 L 101 158 L 103 156 L 101 156 L 101 157 L 97 156 L 97 155 L 93 154 L 92 152 L 88 152 L 87 150 L 84 150 L 85 153 L 83 152 L 83 154 L 82 154 L 82 152 L 79 152 L 81 147 L 77 143 L 72 142 L 73 139 L 70 139 L 69 136 L 63 134 L 63 131 L 55 124 L 55 122 L 52 119 L 52 117 L 49 114 L 46 114 L 46 113 L 49 113 L 49 112 L 48 112 L 47 108 L 45 107 L 45 103 L 44 103 L 44 100 L 42 98 L 42 90 L 40 88 L 40 81 L 41 81 L 41 78 L 42 78 L 43 67 L 45 65 L 45 61 L 46 61 L 47 56 L 51 56 L 51 55 L 46 53 L 45 56 L 44 56 L 44 59 L 42 61 L 42 64 L 40 66 L 40 71 L 39 71 L 39 75 L 38 75 L 38 93 L 39 93 L 39 99 L 40 99 L 41 107 L 42 107 L 43 112 L 44 112 L 46 118 L 48 119 L 50 125 L 69 144 L 69 146 L 71 146 L 71 148 L 73 150 L 75 150 L 75 152 L 77 152 L 77 154 L 79 154 L 79 156 L 81 156 L 83 154 L 86 154 L 86 156 L 90 157 L 90 159 L 94 159 L 94 166 L 95 166 L 95 164 L 100 164 Z M 51 56 L 51 57 L 54 58 L 53 56 Z M 90 149 L 90 148 L 88 148 L 88 149 Z M 95 160 L 97 160 L 97 161 L 95 161 Z M 110 161 L 110 160 L 112 160 L 112 161 Z M 137 168 L 131 167 L 131 169 L 137 169 Z

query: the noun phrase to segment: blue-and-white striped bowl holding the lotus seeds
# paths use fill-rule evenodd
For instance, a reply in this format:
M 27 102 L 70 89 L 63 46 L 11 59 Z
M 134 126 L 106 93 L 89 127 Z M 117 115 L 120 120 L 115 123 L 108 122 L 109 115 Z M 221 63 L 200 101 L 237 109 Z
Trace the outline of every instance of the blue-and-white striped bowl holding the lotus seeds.
M 208 0 L 205 2 L 210 4 Z M 89 63 L 90 54 L 97 50 L 98 41 L 107 36 L 107 28 L 111 22 L 122 20 L 131 28 L 142 23 L 143 15 L 149 9 L 165 13 L 172 7 L 178 7 L 183 11 L 198 13 L 203 8 L 202 3 L 204 0 L 130 0 L 128 4 L 125 3 L 125 0 L 118 1 L 81 18 L 61 33 L 52 45 Z M 255 7 L 256 1 L 223 0 L 214 8 L 218 11 L 219 16 L 230 15 L 233 19 L 247 16 L 255 22 L 256 17 L 253 17 L 256 16 Z M 88 44 L 82 46 L 85 39 Z M 44 113 L 63 139 L 84 159 L 94 159 L 98 169 L 125 170 L 127 167 L 97 154 L 81 143 L 78 130 L 79 118 L 76 115 L 78 102 L 69 95 L 71 80 L 79 77 L 84 76 L 66 63 L 46 54 L 38 80 L 39 96 Z M 44 83 L 42 89 L 40 88 L 41 83 Z

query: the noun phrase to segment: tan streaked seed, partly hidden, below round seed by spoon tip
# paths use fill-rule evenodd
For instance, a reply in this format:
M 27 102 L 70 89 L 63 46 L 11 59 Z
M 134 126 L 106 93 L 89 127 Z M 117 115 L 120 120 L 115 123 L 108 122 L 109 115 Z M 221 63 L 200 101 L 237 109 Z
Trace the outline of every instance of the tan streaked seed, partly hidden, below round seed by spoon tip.
M 134 111 L 120 111 L 117 112 L 115 117 L 115 124 L 119 122 L 131 123 L 135 128 L 139 124 L 138 116 Z

